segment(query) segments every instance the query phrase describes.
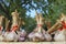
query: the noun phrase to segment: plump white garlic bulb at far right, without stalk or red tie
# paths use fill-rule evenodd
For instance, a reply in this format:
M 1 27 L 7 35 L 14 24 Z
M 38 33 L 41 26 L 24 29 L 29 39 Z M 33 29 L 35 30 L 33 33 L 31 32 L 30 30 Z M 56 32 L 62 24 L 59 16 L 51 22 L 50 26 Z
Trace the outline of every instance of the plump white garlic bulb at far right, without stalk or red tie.
M 54 40 L 56 42 L 65 42 L 66 36 L 65 36 L 64 32 L 65 32 L 65 30 L 59 31 L 59 33 L 56 33 Z

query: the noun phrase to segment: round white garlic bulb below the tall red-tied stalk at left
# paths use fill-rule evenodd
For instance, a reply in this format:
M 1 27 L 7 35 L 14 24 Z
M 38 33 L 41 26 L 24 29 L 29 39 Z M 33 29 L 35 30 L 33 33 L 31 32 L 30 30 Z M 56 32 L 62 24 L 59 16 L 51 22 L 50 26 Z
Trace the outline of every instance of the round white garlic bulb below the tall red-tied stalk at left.
M 6 41 L 18 41 L 18 35 L 15 32 L 6 32 L 4 34 Z

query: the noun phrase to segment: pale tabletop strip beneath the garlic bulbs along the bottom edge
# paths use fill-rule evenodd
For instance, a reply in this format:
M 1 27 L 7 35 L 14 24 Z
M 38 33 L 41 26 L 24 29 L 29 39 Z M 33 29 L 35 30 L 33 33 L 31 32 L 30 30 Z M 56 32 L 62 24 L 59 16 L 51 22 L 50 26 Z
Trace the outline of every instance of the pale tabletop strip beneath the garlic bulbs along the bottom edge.
M 0 44 L 66 44 L 66 42 L 0 42 Z

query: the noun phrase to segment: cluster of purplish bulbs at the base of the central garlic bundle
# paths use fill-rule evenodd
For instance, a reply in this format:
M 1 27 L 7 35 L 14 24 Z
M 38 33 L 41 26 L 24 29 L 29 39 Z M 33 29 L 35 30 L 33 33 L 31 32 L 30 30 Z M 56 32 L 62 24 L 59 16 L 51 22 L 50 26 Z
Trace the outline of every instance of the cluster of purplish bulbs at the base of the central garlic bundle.
M 37 42 L 37 41 L 47 41 L 47 42 L 52 41 L 52 36 L 47 32 L 45 32 L 44 30 L 42 32 L 30 33 L 29 38 L 31 41 L 35 41 L 35 42 Z

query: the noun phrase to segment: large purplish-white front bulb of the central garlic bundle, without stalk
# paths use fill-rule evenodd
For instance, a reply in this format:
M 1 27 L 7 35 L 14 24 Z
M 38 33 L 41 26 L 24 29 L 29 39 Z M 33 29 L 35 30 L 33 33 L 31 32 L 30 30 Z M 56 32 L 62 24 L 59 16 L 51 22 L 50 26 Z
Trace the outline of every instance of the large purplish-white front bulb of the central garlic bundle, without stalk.
M 32 33 L 29 34 L 29 38 L 30 38 L 31 41 L 37 42 L 37 41 L 43 41 L 43 40 L 44 40 L 44 36 L 43 36 L 42 33 L 32 32 Z

